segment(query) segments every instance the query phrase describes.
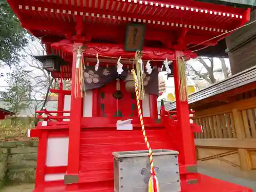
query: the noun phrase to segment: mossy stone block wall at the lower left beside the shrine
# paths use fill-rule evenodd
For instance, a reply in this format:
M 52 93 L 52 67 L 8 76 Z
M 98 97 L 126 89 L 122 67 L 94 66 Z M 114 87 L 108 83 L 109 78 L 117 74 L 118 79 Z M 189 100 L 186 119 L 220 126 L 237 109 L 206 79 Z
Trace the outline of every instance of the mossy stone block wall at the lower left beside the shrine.
M 0 186 L 35 181 L 38 141 L 0 143 Z

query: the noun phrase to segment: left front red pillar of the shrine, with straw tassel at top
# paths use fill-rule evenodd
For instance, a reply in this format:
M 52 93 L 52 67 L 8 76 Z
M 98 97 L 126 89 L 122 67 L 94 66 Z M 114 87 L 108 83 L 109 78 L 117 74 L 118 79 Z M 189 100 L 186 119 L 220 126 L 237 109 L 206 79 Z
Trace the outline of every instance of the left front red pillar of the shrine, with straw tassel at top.
M 71 89 L 71 109 L 70 109 L 70 127 L 69 127 L 69 157 L 67 175 L 77 177 L 79 173 L 79 153 L 80 153 L 80 132 L 82 117 L 82 98 L 74 97 L 75 74 L 76 74 L 76 50 L 81 43 L 74 43 L 73 61 L 72 61 L 72 89 Z M 69 181 L 72 180 L 69 177 Z M 76 179 L 74 179 L 76 180 Z M 75 182 L 74 182 L 75 183 Z M 72 183 L 70 183 L 72 184 Z

